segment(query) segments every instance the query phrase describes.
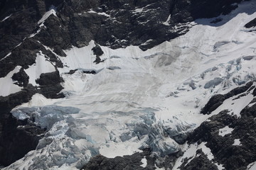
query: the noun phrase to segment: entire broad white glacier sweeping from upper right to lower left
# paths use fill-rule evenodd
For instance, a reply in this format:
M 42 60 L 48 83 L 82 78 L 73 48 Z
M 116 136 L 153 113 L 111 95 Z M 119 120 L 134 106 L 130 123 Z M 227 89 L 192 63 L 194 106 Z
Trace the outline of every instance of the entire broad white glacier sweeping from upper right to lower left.
M 80 169 L 96 154 L 116 157 L 144 147 L 158 155 L 186 151 L 174 169 L 182 159 L 196 157 L 197 149 L 213 160 L 205 143 L 181 146 L 171 136 L 186 134 L 208 119 L 210 115 L 199 113 L 211 96 L 255 79 L 256 57 L 245 57 L 256 56 L 256 34 L 244 28 L 256 18 L 255 5 L 242 2 L 220 16 L 218 24 L 210 23 L 214 18 L 200 19 L 191 23 L 195 26 L 186 35 L 150 50 L 102 46 L 105 61 L 100 64 L 93 62 L 93 41 L 66 50 L 67 57 L 59 57 L 65 67 L 58 68 L 66 97 L 52 100 L 36 94 L 14 108 L 14 116 L 33 116 L 48 132 L 36 150 L 5 169 Z M 38 54 L 38 60 L 25 70 L 34 85 L 41 73 L 54 68 L 43 55 Z M 41 68 L 40 74 L 36 68 Z M 78 70 L 66 74 L 70 69 Z M 82 73 L 91 70 L 97 74 Z M 213 114 L 235 106 L 231 113 L 239 116 L 252 95 L 234 98 Z

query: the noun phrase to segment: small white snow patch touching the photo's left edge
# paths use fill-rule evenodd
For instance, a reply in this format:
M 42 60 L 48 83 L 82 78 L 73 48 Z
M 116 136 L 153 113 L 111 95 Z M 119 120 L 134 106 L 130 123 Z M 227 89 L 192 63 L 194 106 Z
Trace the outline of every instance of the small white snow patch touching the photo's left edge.
M 14 84 L 14 80 L 11 79 L 13 75 L 21 69 L 20 66 L 15 67 L 15 69 L 9 74 L 6 75 L 6 77 L 0 78 L 0 96 L 9 96 L 10 94 L 15 94 L 18 91 L 21 91 L 21 87 Z

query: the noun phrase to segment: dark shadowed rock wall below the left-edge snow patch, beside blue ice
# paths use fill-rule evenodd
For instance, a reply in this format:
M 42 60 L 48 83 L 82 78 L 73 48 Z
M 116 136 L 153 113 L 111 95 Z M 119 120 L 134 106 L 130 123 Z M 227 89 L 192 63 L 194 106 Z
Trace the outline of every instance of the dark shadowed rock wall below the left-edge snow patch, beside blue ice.
M 36 127 L 28 120 L 16 120 L 11 116 L 11 109 L 21 103 L 28 102 L 36 91 L 33 87 L 11 94 L 0 96 L 0 164 L 8 166 L 21 159 L 27 152 L 36 149 L 44 130 Z M 18 128 L 18 126 L 22 126 Z

